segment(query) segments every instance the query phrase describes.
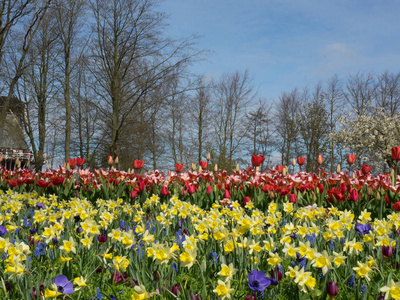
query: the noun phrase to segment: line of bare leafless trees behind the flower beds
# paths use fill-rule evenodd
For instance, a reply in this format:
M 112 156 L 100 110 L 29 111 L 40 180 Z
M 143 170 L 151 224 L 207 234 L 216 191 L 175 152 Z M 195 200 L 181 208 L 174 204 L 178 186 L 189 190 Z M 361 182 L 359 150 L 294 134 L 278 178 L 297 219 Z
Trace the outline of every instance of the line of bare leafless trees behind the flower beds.
M 105 167 L 108 155 L 122 169 L 133 159 L 189 167 L 210 153 L 221 169 L 246 167 L 259 154 L 263 170 L 304 156 L 304 168 L 317 172 L 318 155 L 330 171 L 350 152 L 358 165 L 372 155 L 331 138 L 346 129 L 343 117 L 396 120 L 400 112 L 400 73 L 332 74 L 271 100 L 246 70 L 192 74 L 206 52 L 195 36 L 167 36 L 166 23 L 155 0 L 0 1 L 0 130 L 16 128 L 37 169 L 44 157 L 55 166 L 77 156 Z M 15 117 L 13 99 L 24 108 Z

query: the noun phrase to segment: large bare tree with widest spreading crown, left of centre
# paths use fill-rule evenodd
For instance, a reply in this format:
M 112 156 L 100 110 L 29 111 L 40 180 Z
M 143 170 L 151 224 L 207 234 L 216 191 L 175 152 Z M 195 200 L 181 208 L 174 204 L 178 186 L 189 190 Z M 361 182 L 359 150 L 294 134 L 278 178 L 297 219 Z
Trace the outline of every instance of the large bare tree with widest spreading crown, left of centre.
M 164 15 L 152 0 L 93 0 L 95 19 L 92 74 L 98 82 L 98 105 L 109 128 L 109 153 L 118 156 L 120 138 L 131 114 L 142 114 L 156 101 L 146 97 L 177 67 L 195 55 L 191 42 L 163 37 Z M 142 101 L 146 99 L 146 101 Z

